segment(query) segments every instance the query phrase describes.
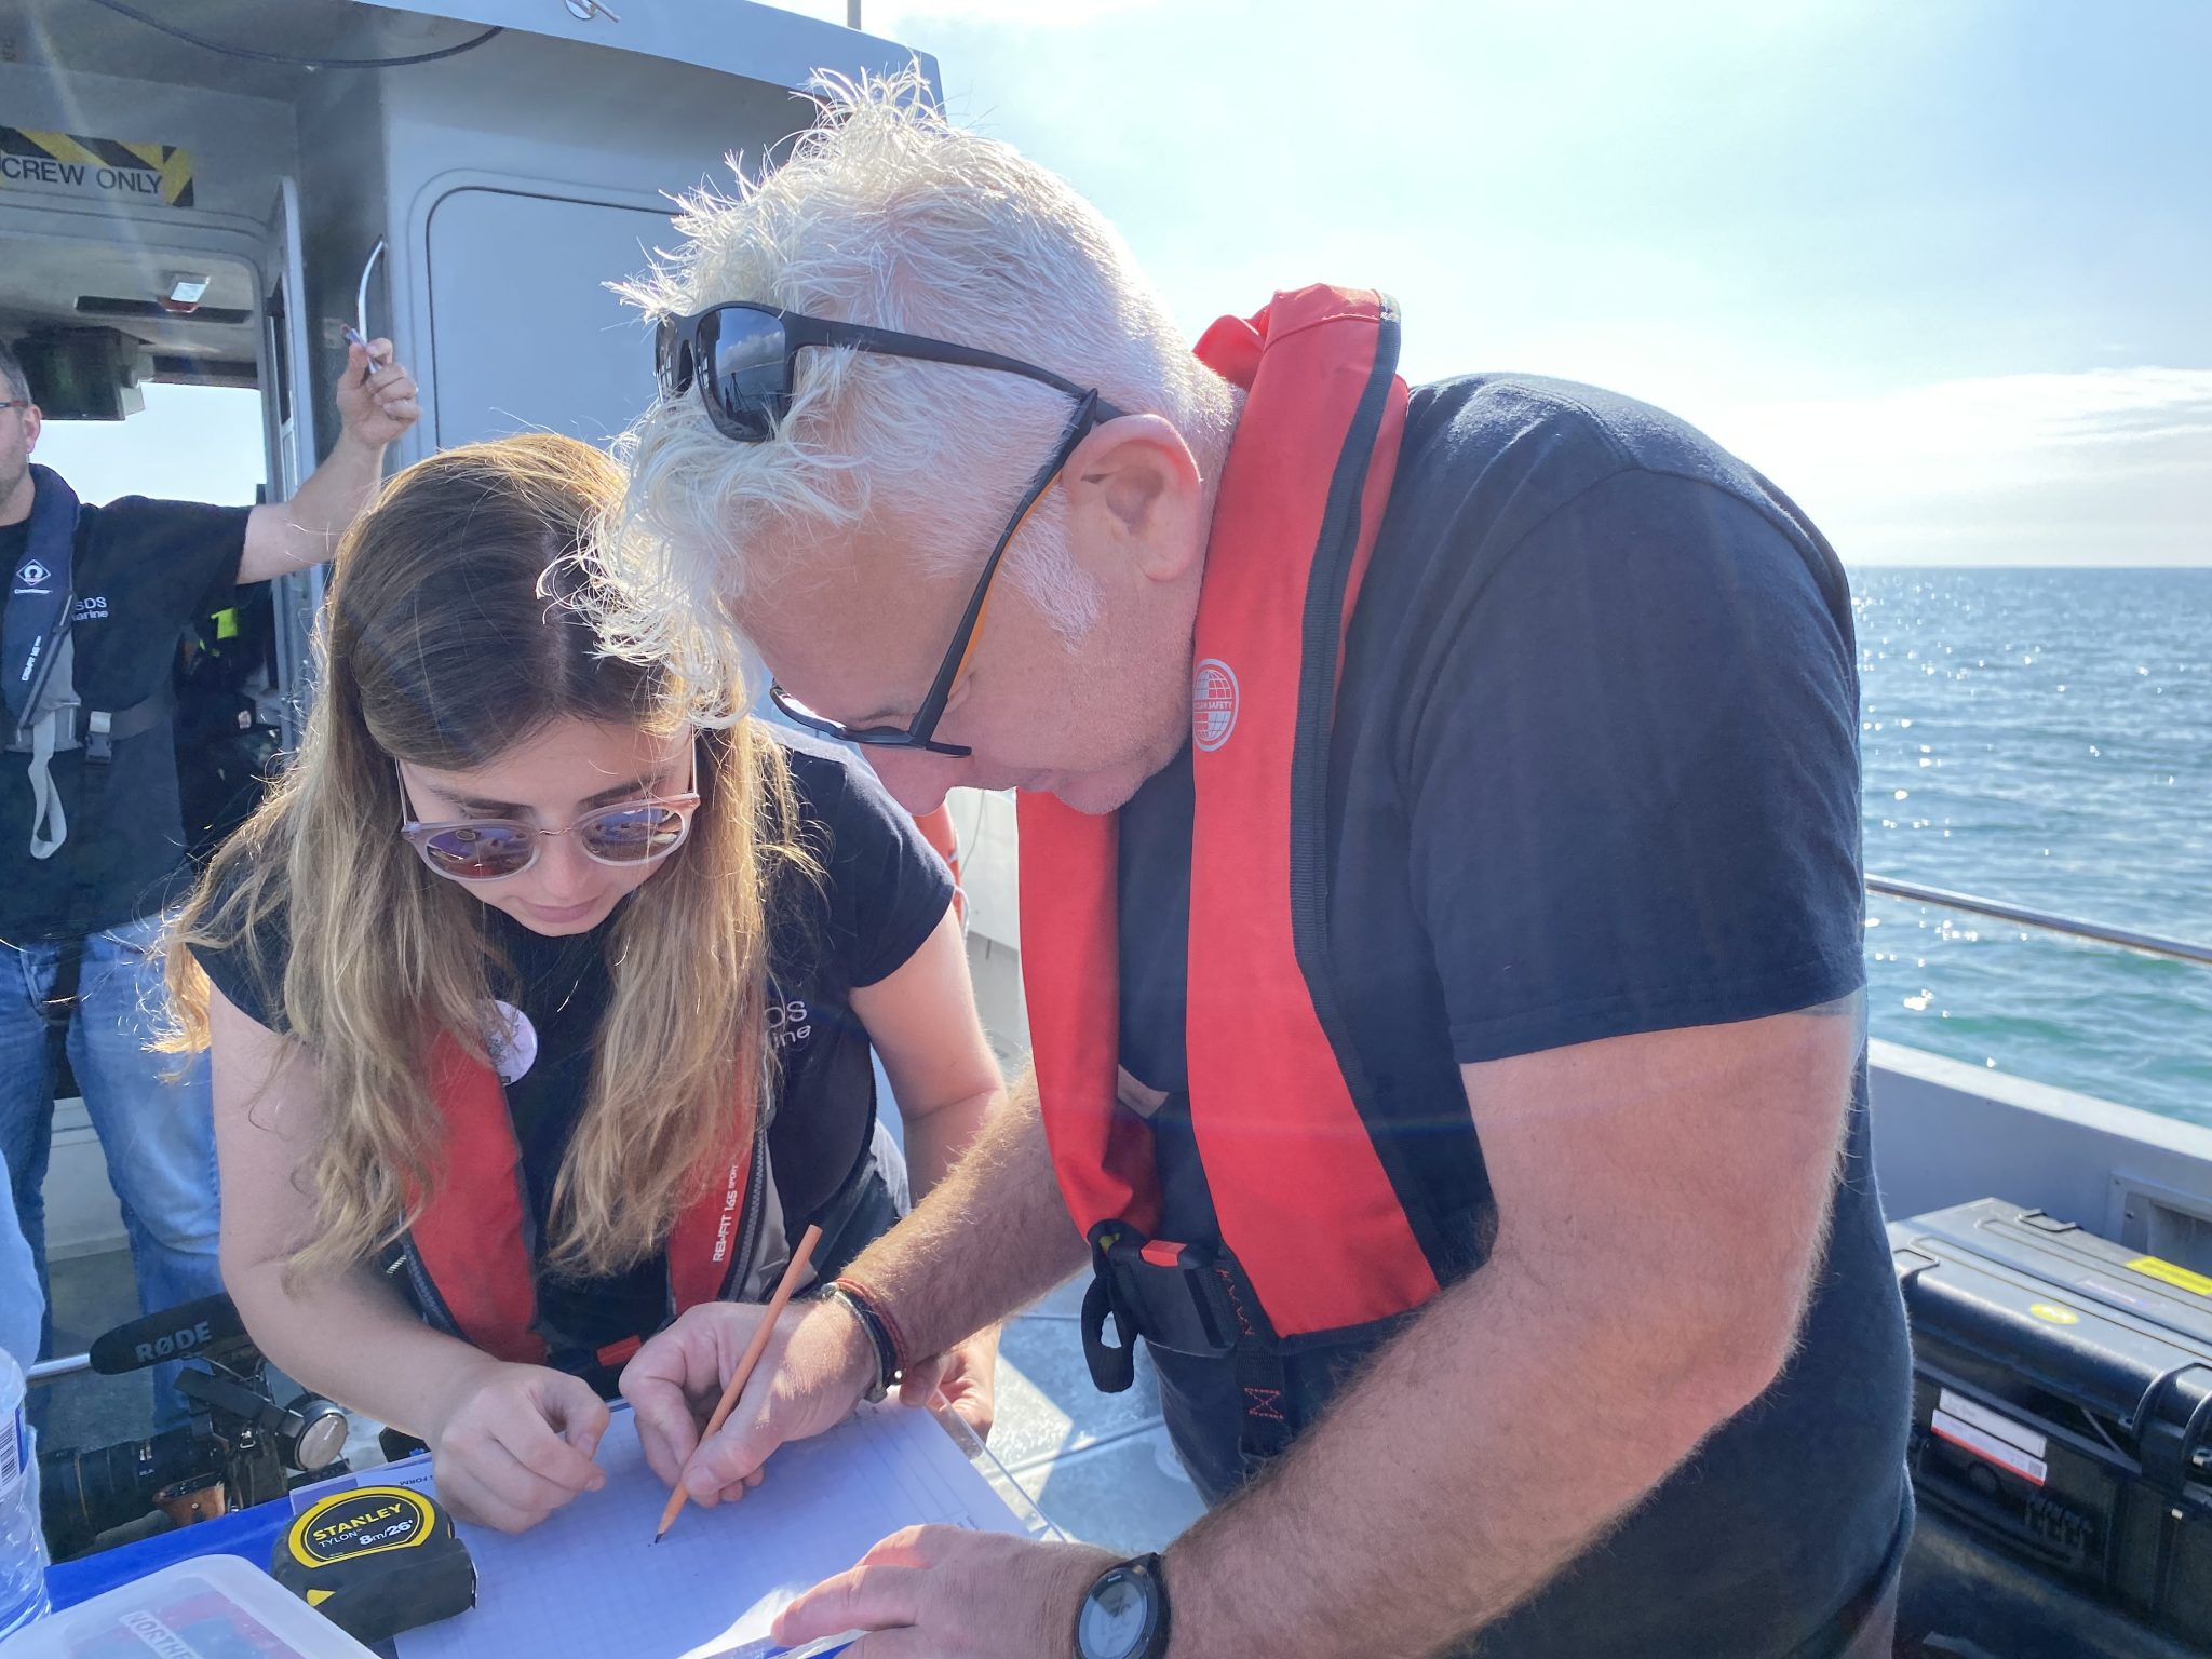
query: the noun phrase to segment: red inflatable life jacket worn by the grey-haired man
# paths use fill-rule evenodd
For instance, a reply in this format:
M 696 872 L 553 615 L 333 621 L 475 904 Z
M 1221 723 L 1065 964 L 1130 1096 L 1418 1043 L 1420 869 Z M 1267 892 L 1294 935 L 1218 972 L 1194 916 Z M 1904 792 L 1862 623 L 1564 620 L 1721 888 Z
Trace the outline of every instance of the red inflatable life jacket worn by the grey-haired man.
M 1086 1347 L 1106 1389 L 1126 1387 L 1137 1334 L 1197 1354 L 1281 1347 L 1405 1314 L 1449 1265 L 1385 1168 L 1349 1040 L 1332 1042 L 1323 938 L 1338 668 L 1405 431 L 1396 307 L 1285 292 L 1197 354 L 1248 394 L 1192 653 L 1186 1053 L 1219 1252 L 1152 1237 L 1152 1133 L 1117 1104 L 1115 818 L 1020 799 L 1031 1042 L 1053 1168 L 1093 1243 Z M 1097 1340 L 1106 1312 L 1121 1352 Z M 1245 1394 L 1265 1416 L 1272 1389 L 1248 1378 Z

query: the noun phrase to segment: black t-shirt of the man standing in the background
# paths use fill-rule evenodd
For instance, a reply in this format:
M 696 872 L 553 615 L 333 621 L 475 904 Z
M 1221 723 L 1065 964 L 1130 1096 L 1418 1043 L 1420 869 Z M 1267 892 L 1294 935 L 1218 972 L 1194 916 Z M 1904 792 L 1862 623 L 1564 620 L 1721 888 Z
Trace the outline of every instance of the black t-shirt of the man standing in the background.
M 77 699 L 122 710 L 168 695 L 177 639 L 237 584 L 250 507 L 201 507 L 126 495 L 84 513 L 73 553 L 69 639 Z M 29 522 L 0 529 L 0 573 L 29 551 Z M 13 584 L 9 584 L 13 586 Z M 0 591 L 0 604 L 7 604 Z M 177 745 L 168 721 L 115 743 L 93 821 L 77 810 L 84 750 L 53 757 L 69 841 L 33 858 L 27 754 L 0 754 L 0 940 L 24 945 L 93 933 L 159 911 L 184 869 Z M 73 914 L 73 889 L 84 883 Z

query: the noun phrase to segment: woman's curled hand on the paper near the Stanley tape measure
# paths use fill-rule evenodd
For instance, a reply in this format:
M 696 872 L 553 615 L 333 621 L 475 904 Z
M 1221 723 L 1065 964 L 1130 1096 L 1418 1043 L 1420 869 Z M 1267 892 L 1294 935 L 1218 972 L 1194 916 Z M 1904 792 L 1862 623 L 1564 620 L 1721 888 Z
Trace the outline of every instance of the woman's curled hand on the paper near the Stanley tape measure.
M 591 1460 L 602 1433 L 606 1400 L 582 1378 L 478 1356 L 447 1389 L 425 1440 L 438 1498 L 456 1515 L 520 1533 L 606 1484 Z

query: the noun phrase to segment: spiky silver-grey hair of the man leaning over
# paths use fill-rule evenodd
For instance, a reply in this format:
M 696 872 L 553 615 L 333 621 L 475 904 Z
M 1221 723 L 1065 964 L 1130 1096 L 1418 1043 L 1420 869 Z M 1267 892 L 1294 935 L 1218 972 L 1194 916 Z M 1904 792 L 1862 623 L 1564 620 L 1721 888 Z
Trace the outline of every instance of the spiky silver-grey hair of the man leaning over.
M 1166 416 L 1192 447 L 1234 427 L 1228 383 L 1197 363 L 1121 237 L 1066 181 L 956 128 L 918 71 L 825 75 L 814 102 L 814 126 L 779 166 L 748 177 L 732 157 L 734 195 L 681 199 L 681 243 L 617 285 L 648 321 L 754 299 L 1024 358 L 1124 411 Z M 655 405 L 617 447 L 630 491 L 599 538 L 608 648 L 743 697 L 748 597 L 803 584 L 863 529 L 907 526 L 922 571 L 980 571 L 1071 416 L 1066 396 L 1022 376 L 845 349 L 801 358 L 770 442 L 719 436 L 697 392 Z M 1057 491 L 1004 575 L 1062 635 L 1097 619 Z

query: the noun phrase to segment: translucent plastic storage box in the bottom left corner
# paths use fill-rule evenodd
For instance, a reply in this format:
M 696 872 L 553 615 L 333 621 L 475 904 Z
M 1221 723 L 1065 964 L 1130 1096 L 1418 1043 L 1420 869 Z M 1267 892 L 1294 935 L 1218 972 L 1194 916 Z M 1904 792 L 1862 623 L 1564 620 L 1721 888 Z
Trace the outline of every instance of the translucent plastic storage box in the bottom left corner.
M 376 1659 L 268 1573 L 197 1555 L 0 1641 L 4 1659 Z

